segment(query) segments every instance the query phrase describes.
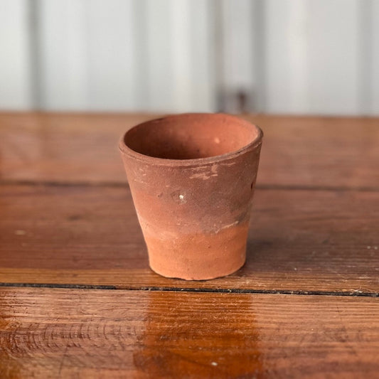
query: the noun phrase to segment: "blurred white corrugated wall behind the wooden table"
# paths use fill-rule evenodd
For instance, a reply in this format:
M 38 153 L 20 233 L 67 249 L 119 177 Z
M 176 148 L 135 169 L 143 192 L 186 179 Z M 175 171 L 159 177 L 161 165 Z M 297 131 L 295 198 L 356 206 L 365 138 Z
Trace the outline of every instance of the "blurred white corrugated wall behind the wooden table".
M 0 110 L 379 114 L 377 0 L 0 0 Z

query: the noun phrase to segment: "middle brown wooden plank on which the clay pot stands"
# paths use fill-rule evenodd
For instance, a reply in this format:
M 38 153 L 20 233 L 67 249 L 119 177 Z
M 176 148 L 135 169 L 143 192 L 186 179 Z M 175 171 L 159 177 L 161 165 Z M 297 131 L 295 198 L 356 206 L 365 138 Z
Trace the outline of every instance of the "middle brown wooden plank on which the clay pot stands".
M 379 192 L 257 190 L 245 267 L 206 282 L 150 271 L 127 187 L 0 193 L 0 282 L 379 292 Z

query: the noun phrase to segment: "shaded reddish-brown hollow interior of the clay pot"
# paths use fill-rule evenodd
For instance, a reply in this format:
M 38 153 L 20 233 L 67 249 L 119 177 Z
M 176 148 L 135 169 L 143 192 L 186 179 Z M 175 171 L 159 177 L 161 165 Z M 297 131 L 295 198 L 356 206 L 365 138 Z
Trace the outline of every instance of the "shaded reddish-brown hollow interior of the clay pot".
M 178 114 L 133 127 L 124 143 L 146 156 L 198 159 L 237 151 L 257 139 L 258 130 L 228 114 Z

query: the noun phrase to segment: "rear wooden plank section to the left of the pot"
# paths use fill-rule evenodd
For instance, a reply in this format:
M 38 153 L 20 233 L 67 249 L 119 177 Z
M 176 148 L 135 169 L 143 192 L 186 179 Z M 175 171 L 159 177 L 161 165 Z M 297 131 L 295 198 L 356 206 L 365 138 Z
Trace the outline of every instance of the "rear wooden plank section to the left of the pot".
M 148 114 L 0 114 L 1 178 L 126 181 L 117 144 Z

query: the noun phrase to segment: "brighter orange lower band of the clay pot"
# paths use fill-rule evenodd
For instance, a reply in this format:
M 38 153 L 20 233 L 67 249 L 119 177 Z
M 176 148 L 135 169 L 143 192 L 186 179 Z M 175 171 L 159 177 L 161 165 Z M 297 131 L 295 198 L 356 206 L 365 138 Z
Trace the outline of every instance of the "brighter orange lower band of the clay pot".
M 233 274 L 245 264 L 248 223 L 218 233 L 156 238 L 145 234 L 151 269 L 164 277 L 205 280 Z

